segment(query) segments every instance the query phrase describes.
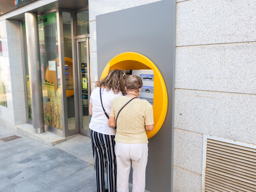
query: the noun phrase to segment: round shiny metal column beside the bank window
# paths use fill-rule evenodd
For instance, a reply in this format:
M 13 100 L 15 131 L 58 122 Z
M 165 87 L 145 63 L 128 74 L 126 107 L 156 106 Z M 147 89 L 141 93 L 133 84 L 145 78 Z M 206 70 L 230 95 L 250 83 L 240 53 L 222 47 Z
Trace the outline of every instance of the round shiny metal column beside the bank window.
M 44 106 L 37 13 L 25 13 L 25 23 L 28 47 L 28 70 L 30 81 L 33 127 L 35 129 L 35 133 L 43 133 Z

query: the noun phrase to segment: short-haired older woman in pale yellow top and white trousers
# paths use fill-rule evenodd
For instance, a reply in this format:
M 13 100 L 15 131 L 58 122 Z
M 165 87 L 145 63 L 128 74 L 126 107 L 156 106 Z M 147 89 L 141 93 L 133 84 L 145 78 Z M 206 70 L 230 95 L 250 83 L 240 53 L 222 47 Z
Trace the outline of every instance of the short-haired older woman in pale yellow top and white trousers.
M 148 161 L 147 131 L 154 129 L 153 108 L 147 100 L 138 98 L 142 88 L 139 76 L 125 80 L 126 96 L 113 99 L 108 120 L 116 127 L 117 192 L 129 192 L 128 180 L 132 161 L 132 192 L 144 192 Z M 118 117 L 118 118 L 117 118 Z

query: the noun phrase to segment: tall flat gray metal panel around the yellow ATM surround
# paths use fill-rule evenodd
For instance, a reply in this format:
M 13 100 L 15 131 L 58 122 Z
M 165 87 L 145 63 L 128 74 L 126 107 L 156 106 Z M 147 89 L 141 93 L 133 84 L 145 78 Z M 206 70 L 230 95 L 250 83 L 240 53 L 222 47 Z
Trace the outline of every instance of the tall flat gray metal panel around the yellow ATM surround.
M 168 94 L 167 115 L 149 139 L 146 189 L 172 191 L 176 0 L 164 0 L 96 16 L 98 76 L 123 52 L 138 52 L 161 72 Z

